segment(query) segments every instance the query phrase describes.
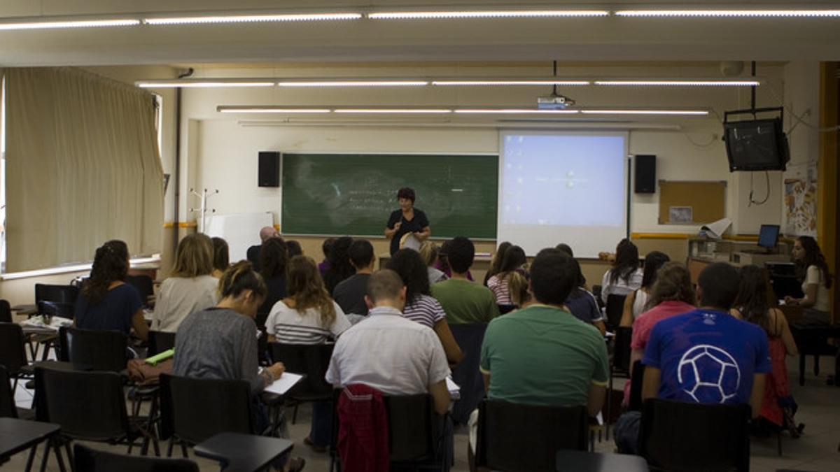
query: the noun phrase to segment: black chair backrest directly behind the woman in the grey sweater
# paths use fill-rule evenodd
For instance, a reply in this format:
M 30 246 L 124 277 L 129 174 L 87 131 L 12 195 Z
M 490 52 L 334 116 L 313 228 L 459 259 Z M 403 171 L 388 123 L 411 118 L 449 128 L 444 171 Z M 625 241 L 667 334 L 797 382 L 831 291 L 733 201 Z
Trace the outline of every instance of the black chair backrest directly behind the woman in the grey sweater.
M 161 438 L 201 443 L 216 433 L 254 433 L 245 380 L 160 375 Z

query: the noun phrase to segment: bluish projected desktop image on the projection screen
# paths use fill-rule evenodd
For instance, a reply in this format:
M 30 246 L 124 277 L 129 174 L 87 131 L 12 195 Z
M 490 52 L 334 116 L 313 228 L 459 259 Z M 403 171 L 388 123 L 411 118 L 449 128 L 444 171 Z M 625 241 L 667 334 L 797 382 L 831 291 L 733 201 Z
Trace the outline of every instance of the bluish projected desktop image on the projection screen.
M 504 137 L 501 224 L 622 226 L 622 136 Z

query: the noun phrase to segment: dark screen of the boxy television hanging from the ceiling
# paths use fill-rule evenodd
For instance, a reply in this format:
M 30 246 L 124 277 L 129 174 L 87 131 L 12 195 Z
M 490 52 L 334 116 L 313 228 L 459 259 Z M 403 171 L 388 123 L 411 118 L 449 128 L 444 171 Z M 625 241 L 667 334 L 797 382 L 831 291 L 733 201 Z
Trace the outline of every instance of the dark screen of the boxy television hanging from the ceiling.
M 723 123 L 729 170 L 785 170 L 790 152 L 779 118 Z

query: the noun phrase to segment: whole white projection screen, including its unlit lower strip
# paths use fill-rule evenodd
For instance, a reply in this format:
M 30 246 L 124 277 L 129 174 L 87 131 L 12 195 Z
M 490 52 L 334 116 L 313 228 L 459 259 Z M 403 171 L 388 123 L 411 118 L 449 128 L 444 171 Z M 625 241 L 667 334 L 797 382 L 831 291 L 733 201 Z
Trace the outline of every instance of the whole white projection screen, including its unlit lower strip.
M 500 134 L 497 239 L 597 257 L 627 237 L 627 133 Z

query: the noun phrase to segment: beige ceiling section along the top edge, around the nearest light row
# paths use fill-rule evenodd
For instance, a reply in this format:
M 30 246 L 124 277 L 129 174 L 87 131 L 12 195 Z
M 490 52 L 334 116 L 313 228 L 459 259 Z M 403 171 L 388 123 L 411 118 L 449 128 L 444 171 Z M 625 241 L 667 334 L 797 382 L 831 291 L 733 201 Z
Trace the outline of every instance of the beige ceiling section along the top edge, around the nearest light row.
M 566 8 L 568 2 L 461 1 L 489 8 Z M 646 5 L 698 7 L 686 0 Z M 231 8 L 235 5 L 236 10 Z M 370 11 L 454 8 L 419 0 L 3 0 L 5 21 L 142 18 L 155 13 Z M 578 0 L 583 8 L 638 2 Z M 837 2 L 733 2 L 721 8 L 837 8 Z M 703 8 L 711 8 L 702 3 Z M 142 11 L 138 11 L 142 9 Z M 273 9 L 273 10 L 272 10 Z M 840 60 L 840 18 L 528 18 L 199 24 L 0 31 L 0 66 L 412 60 Z

